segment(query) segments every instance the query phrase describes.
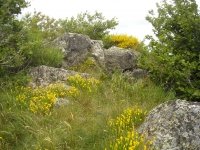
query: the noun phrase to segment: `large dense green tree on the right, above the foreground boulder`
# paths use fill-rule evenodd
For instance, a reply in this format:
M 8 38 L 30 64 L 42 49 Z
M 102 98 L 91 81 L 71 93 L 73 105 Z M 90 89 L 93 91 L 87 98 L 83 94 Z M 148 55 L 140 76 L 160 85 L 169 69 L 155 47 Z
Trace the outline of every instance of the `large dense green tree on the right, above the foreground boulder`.
M 141 64 L 176 95 L 200 101 L 200 14 L 195 0 L 163 0 L 147 20 L 150 40 Z

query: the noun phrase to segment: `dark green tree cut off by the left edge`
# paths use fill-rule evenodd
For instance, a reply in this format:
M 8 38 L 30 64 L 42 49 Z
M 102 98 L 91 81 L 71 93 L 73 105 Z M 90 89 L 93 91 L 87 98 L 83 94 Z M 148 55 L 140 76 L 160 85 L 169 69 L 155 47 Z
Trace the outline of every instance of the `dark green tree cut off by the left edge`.
M 0 74 L 23 63 L 19 47 L 25 37 L 16 17 L 26 6 L 25 0 L 0 0 Z

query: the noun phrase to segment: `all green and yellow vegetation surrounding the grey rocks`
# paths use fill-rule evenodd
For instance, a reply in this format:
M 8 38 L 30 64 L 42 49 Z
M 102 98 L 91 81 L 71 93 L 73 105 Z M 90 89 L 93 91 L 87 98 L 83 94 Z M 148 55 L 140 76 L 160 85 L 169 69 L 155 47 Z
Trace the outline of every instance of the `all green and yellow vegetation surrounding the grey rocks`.
M 137 129 L 152 108 L 177 96 L 199 101 L 200 15 L 194 0 L 158 5 L 159 15 L 147 17 L 157 39 L 149 37 L 147 46 L 133 36 L 109 35 L 117 21 L 98 12 L 65 20 L 35 12 L 17 19 L 26 6 L 24 0 L 0 0 L 0 149 L 147 150 L 152 141 Z M 70 88 L 27 87 L 30 67 L 61 65 L 63 54 L 52 41 L 63 32 L 139 49 L 140 66 L 150 78 L 107 74 L 87 59 L 70 69 L 92 76 L 69 77 Z M 57 98 L 69 104 L 54 108 Z

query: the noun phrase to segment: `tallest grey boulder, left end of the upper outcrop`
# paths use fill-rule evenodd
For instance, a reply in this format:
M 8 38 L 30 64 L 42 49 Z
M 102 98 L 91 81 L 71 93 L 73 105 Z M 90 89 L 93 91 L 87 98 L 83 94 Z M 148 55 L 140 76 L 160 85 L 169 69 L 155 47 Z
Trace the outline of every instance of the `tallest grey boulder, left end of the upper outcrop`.
M 77 33 L 66 33 L 55 40 L 55 44 L 64 52 L 63 67 L 71 67 L 83 62 L 91 49 L 88 36 Z

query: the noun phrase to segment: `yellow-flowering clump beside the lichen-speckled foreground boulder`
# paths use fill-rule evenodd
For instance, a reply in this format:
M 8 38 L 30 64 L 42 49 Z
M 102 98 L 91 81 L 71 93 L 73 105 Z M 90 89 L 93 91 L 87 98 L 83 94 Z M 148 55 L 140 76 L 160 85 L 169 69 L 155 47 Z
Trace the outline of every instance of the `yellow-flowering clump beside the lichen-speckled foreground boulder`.
M 146 112 L 140 108 L 126 109 L 116 119 L 111 119 L 108 124 L 112 133 L 109 143 L 111 150 L 147 150 L 151 145 L 135 127 L 144 121 Z M 114 137 L 114 138 L 113 138 Z

